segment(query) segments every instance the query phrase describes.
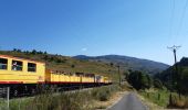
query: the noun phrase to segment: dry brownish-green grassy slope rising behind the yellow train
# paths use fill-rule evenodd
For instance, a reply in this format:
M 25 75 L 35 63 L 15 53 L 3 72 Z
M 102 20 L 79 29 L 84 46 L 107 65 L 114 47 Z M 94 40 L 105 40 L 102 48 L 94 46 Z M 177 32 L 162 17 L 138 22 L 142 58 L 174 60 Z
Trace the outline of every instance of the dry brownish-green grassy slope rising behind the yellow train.
M 46 64 L 46 68 L 49 69 L 63 70 L 66 73 L 75 73 L 75 72 L 93 73 L 97 75 L 107 76 L 113 80 L 118 79 L 117 68 L 112 67 L 109 64 L 79 61 L 67 56 L 50 55 L 50 54 L 33 55 L 33 54 L 8 52 L 8 51 L 0 51 L 0 54 L 44 62 Z M 48 59 L 44 59 L 44 57 L 48 57 Z M 60 59 L 61 63 L 55 62 L 55 59 Z M 74 67 L 72 67 L 72 65 L 74 65 Z

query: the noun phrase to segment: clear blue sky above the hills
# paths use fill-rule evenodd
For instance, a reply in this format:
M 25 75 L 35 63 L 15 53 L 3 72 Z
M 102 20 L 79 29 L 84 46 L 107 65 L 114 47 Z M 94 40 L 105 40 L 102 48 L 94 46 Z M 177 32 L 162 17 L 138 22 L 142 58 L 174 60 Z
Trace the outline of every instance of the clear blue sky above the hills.
M 0 50 L 118 54 L 173 64 L 167 46 L 182 46 L 178 59 L 188 56 L 185 6 L 186 0 L 1 0 Z

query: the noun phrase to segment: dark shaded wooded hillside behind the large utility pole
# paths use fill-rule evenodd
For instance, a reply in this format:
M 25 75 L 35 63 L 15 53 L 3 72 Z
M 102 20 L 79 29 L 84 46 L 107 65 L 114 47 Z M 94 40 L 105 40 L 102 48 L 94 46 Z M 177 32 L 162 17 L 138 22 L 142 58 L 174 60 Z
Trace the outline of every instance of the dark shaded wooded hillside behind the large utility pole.
M 177 70 L 174 65 L 155 77 L 160 79 L 167 88 L 188 94 L 188 57 L 182 57 L 176 65 Z

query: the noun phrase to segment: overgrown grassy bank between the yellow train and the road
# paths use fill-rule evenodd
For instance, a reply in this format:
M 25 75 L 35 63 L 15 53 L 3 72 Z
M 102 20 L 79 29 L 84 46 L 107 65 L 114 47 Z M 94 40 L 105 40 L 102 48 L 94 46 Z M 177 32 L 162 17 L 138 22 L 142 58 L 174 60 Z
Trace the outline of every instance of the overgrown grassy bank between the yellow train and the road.
M 128 90 L 127 86 L 111 85 L 88 90 L 55 94 L 46 90 L 34 97 L 10 100 L 10 110 L 96 110 L 106 109 Z M 0 110 L 7 103 L 0 101 Z

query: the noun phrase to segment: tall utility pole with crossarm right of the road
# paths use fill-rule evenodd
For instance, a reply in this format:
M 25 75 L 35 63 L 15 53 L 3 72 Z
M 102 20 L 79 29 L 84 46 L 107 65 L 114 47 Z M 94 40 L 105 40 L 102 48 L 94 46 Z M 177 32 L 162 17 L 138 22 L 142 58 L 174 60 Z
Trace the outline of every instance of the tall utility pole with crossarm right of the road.
M 171 47 L 168 47 L 168 50 L 173 51 L 174 53 L 174 57 L 175 57 L 175 74 L 176 74 L 176 78 L 177 78 L 177 89 L 178 89 L 178 94 L 179 94 L 179 99 L 180 99 L 180 88 L 179 88 L 179 76 L 178 76 L 178 66 L 177 66 L 177 57 L 176 57 L 176 52 L 177 50 L 181 47 L 181 46 L 171 46 Z M 174 84 L 174 80 L 173 80 L 173 75 L 171 75 L 171 82 Z M 170 96 L 171 96 L 171 92 L 170 92 Z

